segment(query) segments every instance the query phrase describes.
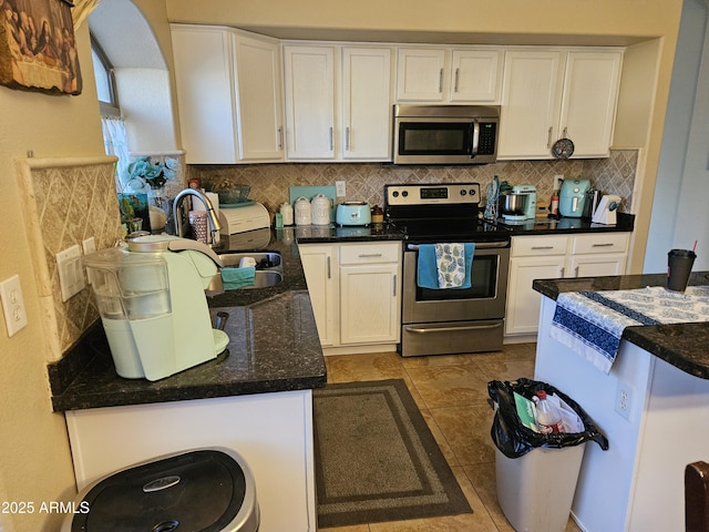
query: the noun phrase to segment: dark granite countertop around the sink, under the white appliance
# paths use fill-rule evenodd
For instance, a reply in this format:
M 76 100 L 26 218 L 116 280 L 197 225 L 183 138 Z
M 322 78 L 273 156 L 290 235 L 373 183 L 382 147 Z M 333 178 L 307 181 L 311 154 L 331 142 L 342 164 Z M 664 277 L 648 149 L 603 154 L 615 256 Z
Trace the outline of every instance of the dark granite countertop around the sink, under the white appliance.
M 261 250 L 280 253 L 281 283 L 207 297 L 213 317 L 219 310 L 229 314 L 224 354 L 155 382 L 124 379 L 115 372 L 99 320 L 48 366 L 54 411 L 323 387 L 325 358 L 297 243 L 271 237 Z

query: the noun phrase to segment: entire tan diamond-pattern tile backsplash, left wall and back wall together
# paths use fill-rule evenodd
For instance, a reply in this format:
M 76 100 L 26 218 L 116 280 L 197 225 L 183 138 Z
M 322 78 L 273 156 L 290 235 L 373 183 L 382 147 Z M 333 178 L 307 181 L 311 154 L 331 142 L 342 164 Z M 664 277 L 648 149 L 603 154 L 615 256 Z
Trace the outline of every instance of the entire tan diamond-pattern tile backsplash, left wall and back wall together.
M 390 183 L 479 182 L 485 185 L 497 175 L 511 184 L 537 186 L 540 201 L 551 196 L 554 175 L 587 177 L 604 193 L 623 197 L 623 211 L 631 213 L 633 187 L 638 164 L 637 150 L 615 150 L 608 158 L 571 161 L 510 161 L 481 166 L 393 166 L 388 164 L 255 164 L 244 166 L 187 166 L 185 178 L 198 177 L 209 187 L 222 177 L 251 185 L 249 197 L 271 212 L 288 201 L 289 186 L 333 185 L 345 181 L 349 201 L 383 203 L 383 186 Z M 181 176 L 182 177 L 182 176 Z M 91 236 L 96 247 L 114 244 L 121 236 L 111 157 L 78 160 L 23 160 L 18 178 L 29 191 L 23 213 L 29 245 L 35 264 L 35 282 L 43 306 L 51 360 L 61 358 L 93 324 L 99 314 L 91 288 L 63 303 L 56 253 Z M 186 181 L 171 183 L 174 195 Z M 179 181 L 179 183 L 178 183 Z

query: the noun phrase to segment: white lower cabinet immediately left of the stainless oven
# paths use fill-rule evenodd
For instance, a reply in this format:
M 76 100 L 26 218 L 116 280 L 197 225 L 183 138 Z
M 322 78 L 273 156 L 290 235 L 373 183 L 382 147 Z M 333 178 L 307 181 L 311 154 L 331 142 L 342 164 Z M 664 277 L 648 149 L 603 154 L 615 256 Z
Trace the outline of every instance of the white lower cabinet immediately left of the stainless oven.
M 399 342 L 400 242 L 298 248 L 323 348 Z

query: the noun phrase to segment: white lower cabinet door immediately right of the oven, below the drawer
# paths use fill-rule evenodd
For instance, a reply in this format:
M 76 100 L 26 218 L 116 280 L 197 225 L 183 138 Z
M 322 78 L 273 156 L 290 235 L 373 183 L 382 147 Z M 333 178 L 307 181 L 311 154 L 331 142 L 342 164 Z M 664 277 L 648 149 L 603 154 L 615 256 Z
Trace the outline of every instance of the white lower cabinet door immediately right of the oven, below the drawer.
M 510 259 L 505 335 L 537 332 L 542 295 L 532 288 L 532 283 L 564 277 L 565 263 L 564 255 Z

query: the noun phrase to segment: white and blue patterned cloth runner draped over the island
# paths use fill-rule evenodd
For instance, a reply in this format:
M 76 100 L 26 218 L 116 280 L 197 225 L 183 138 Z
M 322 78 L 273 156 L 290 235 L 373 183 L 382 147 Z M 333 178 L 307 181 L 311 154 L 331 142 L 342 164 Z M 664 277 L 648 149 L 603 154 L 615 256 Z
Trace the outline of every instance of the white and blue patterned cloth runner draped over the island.
M 697 321 L 709 321 L 709 286 L 568 291 L 556 299 L 549 336 L 608 374 L 626 327 Z

